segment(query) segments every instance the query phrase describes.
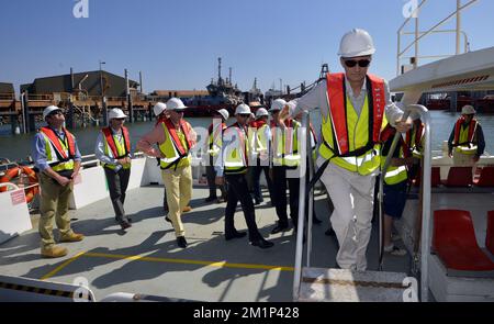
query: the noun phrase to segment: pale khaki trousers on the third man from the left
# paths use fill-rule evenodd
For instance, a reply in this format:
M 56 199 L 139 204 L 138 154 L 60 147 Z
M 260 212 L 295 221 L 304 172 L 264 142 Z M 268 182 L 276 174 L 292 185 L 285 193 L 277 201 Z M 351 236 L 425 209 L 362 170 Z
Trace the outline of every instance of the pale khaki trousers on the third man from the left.
M 161 170 L 161 177 L 167 192 L 168 217 L 173 224 L 177 237 L 184 236 L 181 216 L 182 210 L 192 198 L 192 168 L 189 166 L 177 170 Z

